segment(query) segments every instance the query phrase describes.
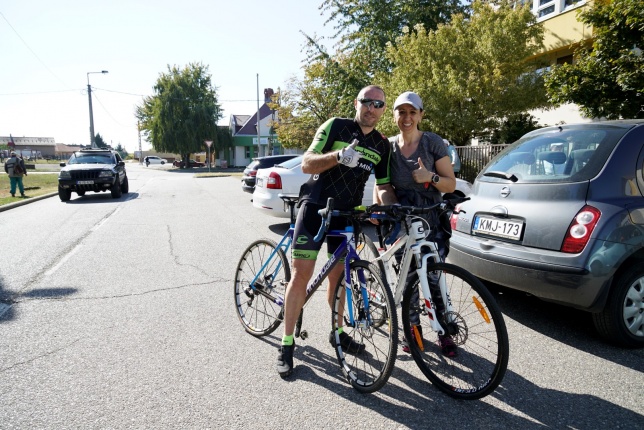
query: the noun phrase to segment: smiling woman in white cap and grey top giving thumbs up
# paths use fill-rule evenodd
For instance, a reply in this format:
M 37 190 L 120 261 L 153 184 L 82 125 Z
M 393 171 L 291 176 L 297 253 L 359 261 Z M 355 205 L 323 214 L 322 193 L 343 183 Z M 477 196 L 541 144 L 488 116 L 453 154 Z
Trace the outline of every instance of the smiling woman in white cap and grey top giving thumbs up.
M 389 177 L 402 205 L 431 205 L 440 201 L 442 193 L 456 189 L 452 162 L 443 138 L 436 133 L 421 131 L 419 124 L 422 118 L 423 101 L 418 94 L 407 91 L 398 96 L 394 102 L 394 121 L 400 133 L 389 138 L 392 148 Z M 375 195 L 374 201 L 377 201 Z M 432 229 L 430 239 L 436 242 L 444 259 L 449 251 L 451 232 L 439 227 L 441 223 L 437 214 L 428 215 L 427 221 L 437 227 Z M 414 295 L 418 297 L 417 294 L 418 289 Z M 422 337 L 420 315 L 410 314 L 410 320 Z M 458 354 L 449 336 L 439 336 L 438 342 L 444 355 L 454 357 Z M 403 342 L 403 350 L 409 352 L 406 342 Z

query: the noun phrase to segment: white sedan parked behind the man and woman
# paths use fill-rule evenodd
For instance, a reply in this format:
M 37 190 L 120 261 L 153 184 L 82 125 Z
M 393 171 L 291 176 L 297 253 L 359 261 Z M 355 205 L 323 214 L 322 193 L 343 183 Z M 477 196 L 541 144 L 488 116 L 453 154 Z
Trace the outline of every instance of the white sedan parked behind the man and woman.
M 309 177 L 310 175 L 302 172 L 301 156 L 268 169 L 259 169 L 256 176 L 255 191 L 253 192 L 253 207 L 271 216 L 288 218 L 290 216 L 288 208 L 285 208 L 284 201 L 279 195 L 297 197 L 300 194 L 300 187 Z M 372 173 L 365 185 L 362 198 L 362 204 L 365 206 L 373 203 L 373 187 L 375 183 L 375 175 Z M 465 195 L 471 192 L 471 187 L 472 184 L 467 181 L 456 180 L 456 188 L 463 191 Z

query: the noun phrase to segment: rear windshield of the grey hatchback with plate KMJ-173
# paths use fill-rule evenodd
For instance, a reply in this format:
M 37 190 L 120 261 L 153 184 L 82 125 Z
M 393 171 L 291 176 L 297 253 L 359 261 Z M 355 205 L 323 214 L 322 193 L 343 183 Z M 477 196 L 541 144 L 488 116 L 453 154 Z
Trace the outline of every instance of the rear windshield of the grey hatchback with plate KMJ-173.
M 580 182 L 595 177 L 628 127 L 601 124 L 549 127 L 499 153 L 480 181 Z

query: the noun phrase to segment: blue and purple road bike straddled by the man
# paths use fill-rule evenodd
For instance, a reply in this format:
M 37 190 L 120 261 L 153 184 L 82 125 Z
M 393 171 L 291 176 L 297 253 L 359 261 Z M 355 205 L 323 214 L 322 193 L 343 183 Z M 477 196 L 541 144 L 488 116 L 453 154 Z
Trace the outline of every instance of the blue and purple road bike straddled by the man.
M 290 207 L 290 228 L 279 243 L 260 239 L 250 244 L 235 272 L 237 317 L 246 332 L 257 337 L 272 333 L 281 324 L 286 286 L 291 279 L 287 252 L 293 242 L 293 208 L 297 198 L 280 197 Z M 360 258 L 359 251 L 376 253 L 369 258 L 377 256 L 375 245 L 372 242 L 370 246 L 366 245 L 365 241 L 370 239 L 360 231 L 360 222 L 366 216 L 364 209 L 334 210 L 333 199 L 329 199 L 327 207 L 319 213 L 323 222 L 314 240 L 320 241 L 326 235 L 340 237 L 342 243 L 307 286 L 304 306 L 330 271 L 337 264 L 343 264 L 344 276 L 335 286 L 332 309 L 336 356 L 349 383 L 360 392 L 371 393 L 387 382 L 396 359 L 398 321 L 393 295 L 382 281 L 379 270 Z M 328 230 L 331 217 L 347 219 L 347 227 Z M 376 305 L 372 305 L 374 297 L 377 297 Z M 308 337 L 306 330 L 302 330 L 303 313 L 304 310 L 298 317 L 294 332 L 294 336 L 302 340 Z M 364 344 L 363 352 L 347 355 L 342 351 L 337 331 L 340 326 L 356 342 Z

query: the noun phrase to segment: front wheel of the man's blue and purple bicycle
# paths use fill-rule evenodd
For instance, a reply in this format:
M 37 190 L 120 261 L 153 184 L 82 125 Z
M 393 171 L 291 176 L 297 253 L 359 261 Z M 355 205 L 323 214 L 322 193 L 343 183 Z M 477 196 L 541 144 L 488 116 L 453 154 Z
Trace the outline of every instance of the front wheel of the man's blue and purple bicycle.
M 344 277 L 340 279 L 335 288 L 332 312 L 332 326 L 335 334 L 335 347 L 338 363 L 349 383 L 361 393 L 373 393 L 382 388 L 393 372 L 396 361 L 398 345 L 398 320 L 396 308 L 391 291 L 382 282 L 377 269 L 366 261 L 353 261 L 350 264 L 350 278 L 352 291 L 353 317 L 355 327 L 349 326 L 350 319 L 346 299 L 342 295 L 345 289 Z M 359 276 L 364 276 L 366 288 L 377 291 L 382 297 L 387 314 L 390 315 L 388 324 L 376 327 L 369 323 L 369 316 L 365 315 L 364 300 L 359 282 Z M 343 330 L 354 341 L 365 346 L 359 354 L 349 354 L 342 351 L 339 346 L 340 338 L 337 332 L 340 322 Z

